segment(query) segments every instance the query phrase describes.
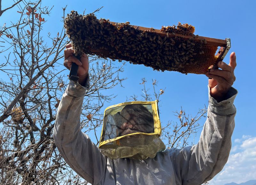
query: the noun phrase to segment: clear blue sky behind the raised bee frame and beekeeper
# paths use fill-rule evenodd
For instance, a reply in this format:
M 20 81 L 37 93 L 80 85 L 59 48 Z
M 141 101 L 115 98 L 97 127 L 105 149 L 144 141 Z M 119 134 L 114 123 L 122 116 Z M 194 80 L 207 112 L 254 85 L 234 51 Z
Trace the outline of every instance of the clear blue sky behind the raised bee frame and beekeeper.
M 235 100 L 237 108 L 236 127 L 232 136 L 233 147 L 229 163 L 221 172 L 222 175 L 220 173 L 212 182 L 210 181 L 210 185 L 225 184 L 232 181 L 241 183 L 250 179 L 256 179 L 256 174 L 252 170 L 254 169 L 255 171 L 256 168 L 255 165 L 253 166 L 256 155 L 253 151 L 249 150 L 250 147 L 256 144 L 256 121 L 253 116 L 255 115 L 256 104 L 254 81 L 254 70 L 256 69 L 254 59 L 256 43 L 254 36 L 256 30 L 255 1 L 169 0 L 159 2 L 151 0 L 74 0 L 71 2 L 67 0 L 45 0 L 43 2 L 48 6 L 54 5 L 52 13 L 50 17 L 46 18 L 47 23 L 44 26 L 44 31 L 52 33 L 57 33 L 63 26 L 60 22 L 63 16 L 61 7 L 68 5 L 66 13 L 71 10 L 83 13 L 84 9 L 86 9 L 85 13 L 90 13 L 104 6 L 99 13 L 96 13 L 97 18 L 106 18 L 114 22 L 129 21 L 131 25 L 154 27 L 156 29 L 160 29 L 162 25 L 177 25 L 178 22 L 188 23 L 195 26 L 195 34 L 200 36 L 218 39 L 231 38 L 230 50 L 235 51 L 237 57 L 236 82 L 233 87 L 239 92 Z M 10 2 L 4 1 L 3 3 L 4 7 L 7 6 L 5 3 Z M 7 23 L 8 20 L 13 19 L 12 16 L 14 15 L 14 10 L 5 12 L 0 18 L 1 26 L 5 22 Z M 231 51 L 228 52 L 224 62 L 229 62 Z M 159 103 L 162 122 L 176 121 L 173 111 L 179 111 L 181 106 L 187 113 L 195 115 L 199 108 L 203 108 L 204 105 L 208 104 L 208 78 L 204 75 L 184 75 L 173 71 L 157 72 L 145 66 L 127 63 L 122 76 L 128 78 L 123 83 L 125 88 L 117 87 L 108 92 L 118 92 L 119 94 L 111 104 L 124 102 L 126 97 L 132 94 L 141 94 L 141 78 L 147 79 L 148 87 L 150 87 L 149 84 L 152 82 L 151 79 L 156 79 L 158 81 L 158 90 L 166 88 Z M 106 104 L 106 107 L 109 105 Z M 199 134 L 195 138 L 196 143 L 198 136 Z M 243 157 L 235 158 L 238 155 L 245 156 L 245 154 L 251 157 L 246 160 L 242 160 Z M 241 159 L 241 164 L 238 163 L 236 166 L 232 166 L 232 157 L 238 161 Z M 243 166 L 249 166 L 249 172 L 244 170 Z M 240 175 L 237 174 L 228 178 L 227 175 L 223 175 L 226 172 L 229 174 L 239 172 Z

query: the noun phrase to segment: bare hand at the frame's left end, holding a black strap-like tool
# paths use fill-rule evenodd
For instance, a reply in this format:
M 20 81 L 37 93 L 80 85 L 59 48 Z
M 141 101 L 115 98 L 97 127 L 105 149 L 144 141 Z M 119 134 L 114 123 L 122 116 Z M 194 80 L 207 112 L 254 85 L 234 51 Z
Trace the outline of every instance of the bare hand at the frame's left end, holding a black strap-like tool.
M 66 49 L 64 50 L 64 66 L 70 70 L 72 63 L 76 63 L 78 65 L 77 76 L 78 83 L 84 85 L 89 71 L 89 62 L 88 56 L 83 54 L 81 56 L 80 61 L 73 56 L 75 50 L 72 48 L 71 43 L 66 45 Z

